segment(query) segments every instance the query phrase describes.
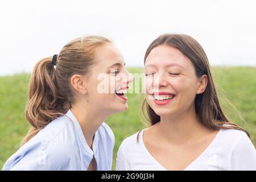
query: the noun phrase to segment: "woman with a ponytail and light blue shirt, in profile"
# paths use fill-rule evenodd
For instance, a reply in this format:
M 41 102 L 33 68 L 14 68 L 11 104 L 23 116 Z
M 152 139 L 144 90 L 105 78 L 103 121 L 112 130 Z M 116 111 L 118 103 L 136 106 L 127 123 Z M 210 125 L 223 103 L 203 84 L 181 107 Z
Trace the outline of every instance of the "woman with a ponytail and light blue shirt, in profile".
M 122 54 L 100 36 L 75 39 L 40 60 L 28 92 L 31 129 L 3 170 L 111 170 L 114 135 L 104 120 L 127 109 L 121 92 L 133 77 L 124 66 Z M 117 79 L 121 73 L 127 79 Z M 102 74 L 114 80 L 106 92 L 98 87 Z

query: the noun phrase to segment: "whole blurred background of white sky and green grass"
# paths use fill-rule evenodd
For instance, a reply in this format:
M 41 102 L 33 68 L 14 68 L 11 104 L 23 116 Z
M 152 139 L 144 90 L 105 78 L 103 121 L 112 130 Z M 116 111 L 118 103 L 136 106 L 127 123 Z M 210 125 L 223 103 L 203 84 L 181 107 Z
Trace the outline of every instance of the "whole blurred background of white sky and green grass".
M 255 146 L 255 8 L 253 0 L 0 2 L 0 168 L 29 127 L 24 111 L 32 68 L 86 35 L 111 39 L 132 73 L 143 72 L 144 53 L 160 34 L 191 35 L 208 55 L 225 113 L 250 131 Z M 122 140 L 147 126 L 139 117 L 143 96 L 128 97 L 129 109 L 106 121 L 116 139 L 113 169 Z

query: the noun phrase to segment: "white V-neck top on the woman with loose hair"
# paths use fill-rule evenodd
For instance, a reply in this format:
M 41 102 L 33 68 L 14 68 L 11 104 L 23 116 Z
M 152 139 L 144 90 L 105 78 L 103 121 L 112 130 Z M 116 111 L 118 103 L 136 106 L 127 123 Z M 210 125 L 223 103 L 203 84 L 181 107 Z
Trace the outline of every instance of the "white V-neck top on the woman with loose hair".
M 121 170 L 167 170 L 150 154 L 143 142 L 143 132 L 123 140 L 117 153 Z M 184 170 L 256 170 L 256 150 L 246 133 L 221 129 L 207 149 Z

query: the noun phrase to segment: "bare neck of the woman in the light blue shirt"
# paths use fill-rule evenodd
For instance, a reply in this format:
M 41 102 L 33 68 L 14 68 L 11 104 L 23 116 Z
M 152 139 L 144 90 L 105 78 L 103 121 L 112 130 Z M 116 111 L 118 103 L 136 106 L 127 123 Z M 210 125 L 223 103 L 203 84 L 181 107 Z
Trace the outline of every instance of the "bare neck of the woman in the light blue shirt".
M 93 109 L 88 103 L 73 104 L 71 111 L 81 126 L 82 133 L 84 134 L 88 146 L 92 148 L 94 134 L 108 115 L 101 113 L 97 109 Z

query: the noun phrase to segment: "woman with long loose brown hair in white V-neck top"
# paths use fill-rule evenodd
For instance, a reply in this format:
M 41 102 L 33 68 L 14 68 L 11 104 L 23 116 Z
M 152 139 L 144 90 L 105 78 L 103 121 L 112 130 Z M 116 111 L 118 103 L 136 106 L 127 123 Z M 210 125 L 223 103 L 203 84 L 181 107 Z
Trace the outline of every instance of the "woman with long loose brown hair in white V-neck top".
M 126 138 L 117 170 L 256 170 L 247 131 L 222 112 L 204 49 L 191 36 L 165 34 L 144 56 L 151 126 Z

